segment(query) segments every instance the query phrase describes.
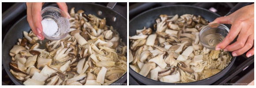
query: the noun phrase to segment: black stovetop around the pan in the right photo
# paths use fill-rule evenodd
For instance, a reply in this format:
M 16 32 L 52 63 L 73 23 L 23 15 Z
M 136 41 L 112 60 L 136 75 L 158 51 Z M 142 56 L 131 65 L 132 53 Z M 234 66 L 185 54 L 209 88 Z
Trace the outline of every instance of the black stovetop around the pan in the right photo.
M 167 5 L 191 5 L 214 11 L 225 16 L 238 3 L 129 3 L 129 19 L 155 7 Z M 254 55 L 247 58 L 245 54 L 237 56 L 230 70 L 211 85 L 248 85 L 254 80 Z M 129 85 L 145 85 L 129 73 Z

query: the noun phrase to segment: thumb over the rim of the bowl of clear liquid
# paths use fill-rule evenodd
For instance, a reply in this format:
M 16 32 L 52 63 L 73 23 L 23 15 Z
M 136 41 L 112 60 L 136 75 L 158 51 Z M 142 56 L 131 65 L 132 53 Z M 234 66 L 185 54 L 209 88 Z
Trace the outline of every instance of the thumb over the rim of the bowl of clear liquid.
M 223 17 L 216 18 L 213 22 L 210 22 L 209 24 L 214 24 L 214 23 L 232 24 L 230 20 L 230 16 L 223 16 Z

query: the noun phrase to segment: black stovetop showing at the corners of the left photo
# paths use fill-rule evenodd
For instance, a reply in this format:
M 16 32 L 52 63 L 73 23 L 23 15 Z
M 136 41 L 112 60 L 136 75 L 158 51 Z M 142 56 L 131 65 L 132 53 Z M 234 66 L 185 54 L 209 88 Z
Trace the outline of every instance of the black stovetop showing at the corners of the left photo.
M 56 4 L 56 3 L 45 3 L 43 5 L 43 7 L 49 6 L 51 4 Z M 93 4 L 107 6 L 109 3 L 93 3 Z M 19 6 L 17 6 L 17 5 L 19 5 Z M 3 17 L 3 13 L 5 11 L 8 11 L 8 9 L 11 7 L 19 7 L 19 10 L 18 10 L 19 12 L 16 12 L 18 14 L 16 14 L 15 17 L 12 17 L 11 21 L 6 23 L 6 25 L 3 26 L 3 23 L 2 23 L 2 42 L 4 40 L 4 36 L 8 32 L 8 30 L 11 28 L 11 26 L 13 26 L 15 24 L 15 22 L 17 22 L 20 18 L 22 18 L 26 15 L 26 3 L 2 3 L 2 17 Z M 117 11 L 120 15 L 123 15 L 124 18 L 127 18 L 127 3 L 126 2 L 125 3 L 117 3 L 113 7 L 113 11 Z M 3 22 L 3 20 L 2 20 L 2 22 Z M 126 85 L 126 84 L 127 84 L 127 80 L 124 82 L 124 85 Z M 6 71 L 4 70 L 3 64 L 2 64 L 2 85 L 15 85 L 11 81 L 11 79 L 8 76 L 8 74 L 6 73 Z

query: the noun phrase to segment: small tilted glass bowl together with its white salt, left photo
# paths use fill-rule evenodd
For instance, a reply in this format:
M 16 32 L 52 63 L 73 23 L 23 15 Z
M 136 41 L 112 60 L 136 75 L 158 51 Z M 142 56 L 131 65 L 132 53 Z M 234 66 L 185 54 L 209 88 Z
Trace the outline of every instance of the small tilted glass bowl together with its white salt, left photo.
M 68 35 L 68 16 L 57 7 L 45 7 L 41 11 L 42 35 L 49 40 L 61 40 Z

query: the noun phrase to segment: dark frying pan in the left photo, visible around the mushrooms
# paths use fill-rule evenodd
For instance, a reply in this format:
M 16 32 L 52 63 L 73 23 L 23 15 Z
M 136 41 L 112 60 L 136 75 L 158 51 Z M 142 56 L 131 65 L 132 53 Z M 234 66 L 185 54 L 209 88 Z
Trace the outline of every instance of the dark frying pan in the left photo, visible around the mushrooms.
M 56 4 L 53 4 L 51 6 L 58 7 Z M 127 19 L 119 13 L 117 13 L 116 11 L 113 11 L 108 7 L 90 3 L 67 3 L 67 6 L 68 11 L 70 11 L 72 7 L 75 7 L 75 11 L 82 9 L 85 11 L 84 13 L 87 15 L 93 14 L 98 16 L 99 18 L 105 17 L 107 21 L 106 25 L 113 26 L 114 29 L 117 29 L 117 32 L 120 34 L 120 38 L 125 44 L 127 44 Z M 98 11 L 102 11 L 102 15 L 97 15 Z M 116 21 L 112 20 L 113 17 L 116 18 Z M 11 29 L 9 29 L 2 43 L 2 63 L 8 76 L 16 85 L 23 85 L 23 83 L 15 79 L 15 77 L 10 73 L 9 64 L 11 62 L 11 56 L 9 55 L 9 51 L 11 50 L 12 46 L 18 42 L 18 38 L 23 38 L 23 31 L 30 31 L 30 26 L 27 22 L 27 16 L 21 18 L 11 27 Z M 114 83 L 124 83 L 124 81 L 126 80 L 127 73 L 125 73 Z

